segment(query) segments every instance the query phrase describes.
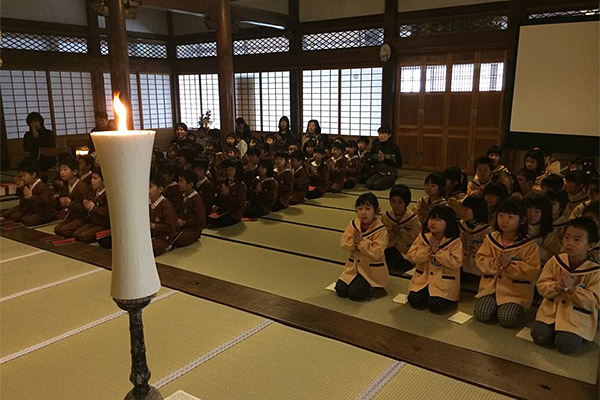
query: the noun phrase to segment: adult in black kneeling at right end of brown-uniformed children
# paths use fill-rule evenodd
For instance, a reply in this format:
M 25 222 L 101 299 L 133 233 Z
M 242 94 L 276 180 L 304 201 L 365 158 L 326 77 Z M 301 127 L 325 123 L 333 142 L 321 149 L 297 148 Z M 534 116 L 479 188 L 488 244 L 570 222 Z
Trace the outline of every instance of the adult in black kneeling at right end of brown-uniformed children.
M 377 130 L 379 139 L 373 142 L 369 163 L 373 174 L 367 179 L 367 188 L 385 190 L 394 186 L 398 177 L 398 168 L 402 168 L 400 149 L 392 141 L 392 130 L 389 126 L 382 126 Z

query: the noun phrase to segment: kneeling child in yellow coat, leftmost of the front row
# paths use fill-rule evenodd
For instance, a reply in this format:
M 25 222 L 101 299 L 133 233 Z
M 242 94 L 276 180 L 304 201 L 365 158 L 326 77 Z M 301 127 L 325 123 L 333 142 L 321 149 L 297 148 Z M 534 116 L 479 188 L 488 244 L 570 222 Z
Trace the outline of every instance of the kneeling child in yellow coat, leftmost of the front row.
M 373 193 L 364 193 L 356 199 L 356 214 L 342 235 L 342 249 L 350 252 L 348 261 L 335 291 L 340 297 L 351 300 L 368 300 L 374 287 L 385 287 L 389 273 L 384 251 L 388 234 L 376 217 L 379 202 Z

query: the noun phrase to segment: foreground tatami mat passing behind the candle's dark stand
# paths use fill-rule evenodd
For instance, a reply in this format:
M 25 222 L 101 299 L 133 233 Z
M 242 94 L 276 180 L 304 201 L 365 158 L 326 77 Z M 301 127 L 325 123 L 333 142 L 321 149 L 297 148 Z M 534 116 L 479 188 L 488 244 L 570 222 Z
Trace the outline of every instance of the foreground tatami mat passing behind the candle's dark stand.
M 80 297 L 75 299 L 71 301 Z M 114 303 L 113 310 L 118 310 Z M 182 293 L 149 305 L 143 313 L 151 381 L 262 321 Z M 132 387 L 128 381 L 131 368 L 128 327 L 127 317 L 121 316 L 3 364 L 0 366 L 2 399 L 123 398 Z

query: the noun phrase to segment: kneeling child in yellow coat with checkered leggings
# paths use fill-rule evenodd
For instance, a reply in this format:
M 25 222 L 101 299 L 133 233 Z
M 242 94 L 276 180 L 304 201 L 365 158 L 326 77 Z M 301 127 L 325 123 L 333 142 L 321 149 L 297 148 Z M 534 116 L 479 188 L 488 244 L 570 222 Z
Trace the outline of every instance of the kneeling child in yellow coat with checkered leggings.
M 487 322 L 497 315 L 500 325 L 510 328 L 517 325 L 523 309 L 531 307 L 540 251 L 527 236 L 527 209 L 521 200 L 500 204 L 495 229 L 475 255 L 482 273 L 475 317 Z

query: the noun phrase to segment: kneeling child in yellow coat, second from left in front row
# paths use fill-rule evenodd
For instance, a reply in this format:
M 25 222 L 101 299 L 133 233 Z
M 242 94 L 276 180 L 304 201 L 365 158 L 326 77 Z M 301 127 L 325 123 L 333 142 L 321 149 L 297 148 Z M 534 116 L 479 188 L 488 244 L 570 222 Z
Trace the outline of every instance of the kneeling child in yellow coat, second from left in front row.
M 415 265 L 408 287 L 408 303 L 432 312 L 447 310 L 458 301 L 462 242 L 456 213 L 448 206 L 435 206 L 423 224 L 407 257 Z

